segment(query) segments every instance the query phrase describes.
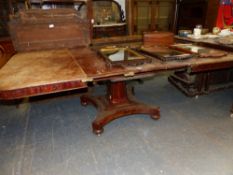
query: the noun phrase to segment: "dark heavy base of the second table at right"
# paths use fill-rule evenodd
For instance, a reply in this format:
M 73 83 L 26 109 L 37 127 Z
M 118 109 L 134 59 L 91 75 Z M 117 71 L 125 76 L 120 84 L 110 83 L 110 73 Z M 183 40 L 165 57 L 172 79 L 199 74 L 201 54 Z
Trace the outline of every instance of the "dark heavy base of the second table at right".
M 233 69 L 229 68 L 201 73 L 186 70 L 177 71 L 170 75 L 168 80 L 184 94 L 193 97 L 233 87 Z

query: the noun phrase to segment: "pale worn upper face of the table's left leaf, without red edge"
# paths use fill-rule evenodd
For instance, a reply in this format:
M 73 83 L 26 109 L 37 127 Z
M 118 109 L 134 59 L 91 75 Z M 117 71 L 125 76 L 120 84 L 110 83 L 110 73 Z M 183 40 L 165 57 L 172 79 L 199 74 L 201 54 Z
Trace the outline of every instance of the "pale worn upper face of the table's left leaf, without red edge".
M 0 69 L 0 91 L 82 81 L 86 77 L 68 50 L 18 53 Z

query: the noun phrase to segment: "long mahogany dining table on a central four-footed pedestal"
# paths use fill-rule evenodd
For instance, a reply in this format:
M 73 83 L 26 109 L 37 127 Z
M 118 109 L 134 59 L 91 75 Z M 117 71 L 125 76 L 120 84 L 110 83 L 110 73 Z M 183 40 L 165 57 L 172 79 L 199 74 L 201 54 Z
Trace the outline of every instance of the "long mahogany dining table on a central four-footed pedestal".
M 0 99 L 22 99 L 107 82 L 106 95 L 81 96 L 82 105 L 92 104 L 98 109 L 92 128 L 99 135 L 106 124 L 120 117 L 148 114 L 152 119 L 160 118 L 159 107 L 136 100 L 127 81 L 175 70 L 204 72 L 229 67 L 233 67 L 232 53 L 215 59 L 193 57 L 164 62 L 152 58 L 150 63 L 137 66 L 109 67 L 91 47 L 28 51 L 14 54 L 0 69 Z

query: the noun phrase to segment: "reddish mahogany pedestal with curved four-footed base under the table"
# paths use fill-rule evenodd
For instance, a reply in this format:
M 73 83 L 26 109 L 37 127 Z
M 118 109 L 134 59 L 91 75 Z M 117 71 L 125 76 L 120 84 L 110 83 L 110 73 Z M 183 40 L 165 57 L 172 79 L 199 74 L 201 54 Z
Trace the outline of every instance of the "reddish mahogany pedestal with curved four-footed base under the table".
M 81 97 L 82 105 L 86 106 L 90 103 L 98 109 L 96 119 L 92 123 L 95 134 L 101 134 L 104 131 L 103 127 L 112 120 L 131 114 L 148 114 L 152 119 L 160 118 L 159 108 L 136 101 L 132 90 L 127 88 L 125 82 L 111 82 L 107 87 L 105 96 Z

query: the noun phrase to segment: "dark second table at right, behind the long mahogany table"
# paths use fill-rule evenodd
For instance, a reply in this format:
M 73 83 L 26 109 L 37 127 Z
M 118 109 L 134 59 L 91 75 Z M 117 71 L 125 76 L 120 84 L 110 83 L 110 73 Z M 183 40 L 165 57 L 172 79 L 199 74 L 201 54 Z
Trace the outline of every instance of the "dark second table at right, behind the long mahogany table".
M 223 46 L 213 39 L 192 40 L 183 37 L 176 37 L 178 42 L 195 43 L 201 46 L 208 46 L 215 49 L 232 51 L 233 47 Z M 214 58 L 213 58 L 214 59 Z M 218 61 L 218 58 L 215 58 Z M 218 70 L 198 72 L 178 71 L 169 76 L 168 80 L 188 96 L 207 94 L 216 90 L 233 87 L 233 68 L 221 68 Z

